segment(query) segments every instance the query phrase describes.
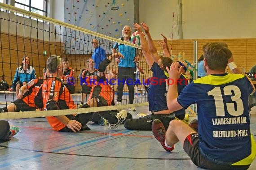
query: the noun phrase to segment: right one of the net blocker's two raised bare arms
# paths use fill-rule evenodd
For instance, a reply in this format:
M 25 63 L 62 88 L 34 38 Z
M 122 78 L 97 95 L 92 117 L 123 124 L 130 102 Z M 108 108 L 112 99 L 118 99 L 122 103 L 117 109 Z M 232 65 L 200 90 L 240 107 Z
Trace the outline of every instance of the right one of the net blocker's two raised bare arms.
M 149 47 L 150 54 L 153 57 L 154 61 L 157 62 L 159 60 L 159 55 L 157 53 L 156 47 L 154 46 L 153 39 L 151 38 L 151 35 L 149 32 L 149 27 L 144 22 L 141 22 L 141 26 L 145 30 L 145 34 L 146 34 L 146 37 L 148 40 L 148 47 Z

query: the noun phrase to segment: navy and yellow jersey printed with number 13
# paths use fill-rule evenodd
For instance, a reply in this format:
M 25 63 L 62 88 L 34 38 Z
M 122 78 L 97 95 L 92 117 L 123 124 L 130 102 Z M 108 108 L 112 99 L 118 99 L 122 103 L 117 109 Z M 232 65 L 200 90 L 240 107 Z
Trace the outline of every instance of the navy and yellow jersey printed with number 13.
M 248 165 L 255 157 L 248 96 L 252 85 L 242 74 L 202 77 L 187 85 L 177 101 L 197 104 L 200 152 L 218 164 Z

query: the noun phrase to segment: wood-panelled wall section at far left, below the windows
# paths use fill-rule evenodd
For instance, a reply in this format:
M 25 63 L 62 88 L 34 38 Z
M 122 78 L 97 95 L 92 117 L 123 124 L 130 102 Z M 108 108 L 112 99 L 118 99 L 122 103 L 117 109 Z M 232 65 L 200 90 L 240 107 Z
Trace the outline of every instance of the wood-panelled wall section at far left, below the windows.
M 16 68 L 21 66 L 24 55 L 30 57 L 30 64 L 35 68 L 36 76 L 43 76 L 42 69 L 45 67 L 46 59 L 49 55 L 61 55 L 61 45 L 0 33 L 0 76 L 5 74 L 11 85 Z M 44 55 L 43 51 L 47 51 L 47 55 Z

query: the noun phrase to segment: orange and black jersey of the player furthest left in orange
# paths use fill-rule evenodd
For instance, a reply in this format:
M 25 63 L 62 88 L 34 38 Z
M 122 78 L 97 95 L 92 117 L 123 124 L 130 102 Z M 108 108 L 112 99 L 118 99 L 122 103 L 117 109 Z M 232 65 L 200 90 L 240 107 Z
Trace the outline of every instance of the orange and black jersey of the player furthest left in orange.
M 35 78 L 27 83 L 28 91 L 22 95 L 22 100 L 30 107 L 42 108 L 42 95 L 40 94 L 43 78 Z M 36 102 L 35 102 L 36 101 Z

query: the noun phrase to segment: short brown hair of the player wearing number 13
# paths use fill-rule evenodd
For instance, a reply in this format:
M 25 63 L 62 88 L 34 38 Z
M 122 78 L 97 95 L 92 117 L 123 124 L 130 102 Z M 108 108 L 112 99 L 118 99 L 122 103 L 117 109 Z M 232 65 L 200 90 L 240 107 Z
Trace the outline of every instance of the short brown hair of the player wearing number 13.
M 203 56 L 211 70 L 225 70 L 232 52 L 226 43 L 217 42 L 208 44 L 203 51 Z

